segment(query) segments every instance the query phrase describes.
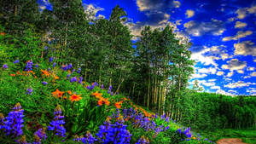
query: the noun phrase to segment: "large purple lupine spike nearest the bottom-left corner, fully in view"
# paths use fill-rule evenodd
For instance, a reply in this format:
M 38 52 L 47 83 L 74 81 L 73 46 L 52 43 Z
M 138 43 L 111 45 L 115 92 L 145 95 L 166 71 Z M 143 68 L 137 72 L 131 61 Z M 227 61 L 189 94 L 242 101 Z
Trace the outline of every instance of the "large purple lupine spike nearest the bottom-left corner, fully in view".
M 13 111 L 9 112 L 8 117 L 6 118 L 6 121 L 3 122 L 4 124 L 4 132 L 6 132 L 6 135 L 15 135 L 19 136 L 22 135 L 22 127 L 23 127 L 23 112 L 24 110 L 21 109 L 20 103 L 18 102 L 15 107 L 13 108 Z

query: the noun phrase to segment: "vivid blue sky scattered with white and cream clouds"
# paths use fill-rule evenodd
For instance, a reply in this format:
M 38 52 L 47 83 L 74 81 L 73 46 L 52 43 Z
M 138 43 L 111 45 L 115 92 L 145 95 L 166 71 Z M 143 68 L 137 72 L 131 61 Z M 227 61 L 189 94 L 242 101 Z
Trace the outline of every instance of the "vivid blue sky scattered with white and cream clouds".
M 40 9 L 51 9 L 46 0 Z M 143 26 L 171 25 L 188 38 L 196 61 L 195 79 L 207 92 L 256 95 L 256 1 L 253 0 L 83 0 L 96 18 L 109 18 L 115 5 L 125 9 L 125 25 L 139 36 Z M 135 37 L 136 39 L 136 37 Z

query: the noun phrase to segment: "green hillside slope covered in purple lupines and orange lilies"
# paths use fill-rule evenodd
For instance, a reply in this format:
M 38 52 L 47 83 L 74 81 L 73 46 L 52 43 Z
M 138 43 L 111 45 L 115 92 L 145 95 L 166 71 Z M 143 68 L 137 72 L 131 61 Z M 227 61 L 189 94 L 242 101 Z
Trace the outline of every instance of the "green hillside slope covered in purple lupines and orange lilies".
M 83 81 L 80 69 L 19 60 L 0 68 L 3 143 L 211 143 L 165 114 Z

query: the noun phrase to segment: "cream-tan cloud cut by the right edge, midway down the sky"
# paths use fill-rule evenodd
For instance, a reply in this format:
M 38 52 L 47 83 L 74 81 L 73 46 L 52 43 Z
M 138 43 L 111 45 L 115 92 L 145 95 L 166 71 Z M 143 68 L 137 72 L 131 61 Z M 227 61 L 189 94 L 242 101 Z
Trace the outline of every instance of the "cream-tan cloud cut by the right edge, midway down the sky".
M 256 46 L 251 41 L 235 43 L 235 55 L 253 55 L 256 56 Z

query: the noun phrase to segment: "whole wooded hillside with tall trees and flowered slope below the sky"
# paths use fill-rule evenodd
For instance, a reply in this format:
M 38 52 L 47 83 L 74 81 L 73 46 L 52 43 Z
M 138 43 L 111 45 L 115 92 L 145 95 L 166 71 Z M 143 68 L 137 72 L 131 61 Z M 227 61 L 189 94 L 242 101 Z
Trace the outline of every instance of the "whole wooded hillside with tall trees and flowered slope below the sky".
M 172 26 L 134 40 L 119 5 L 49 2 L 0 0 L 0 143 L 255 143 L 256 97 L 189 89 L 193 43 Z

